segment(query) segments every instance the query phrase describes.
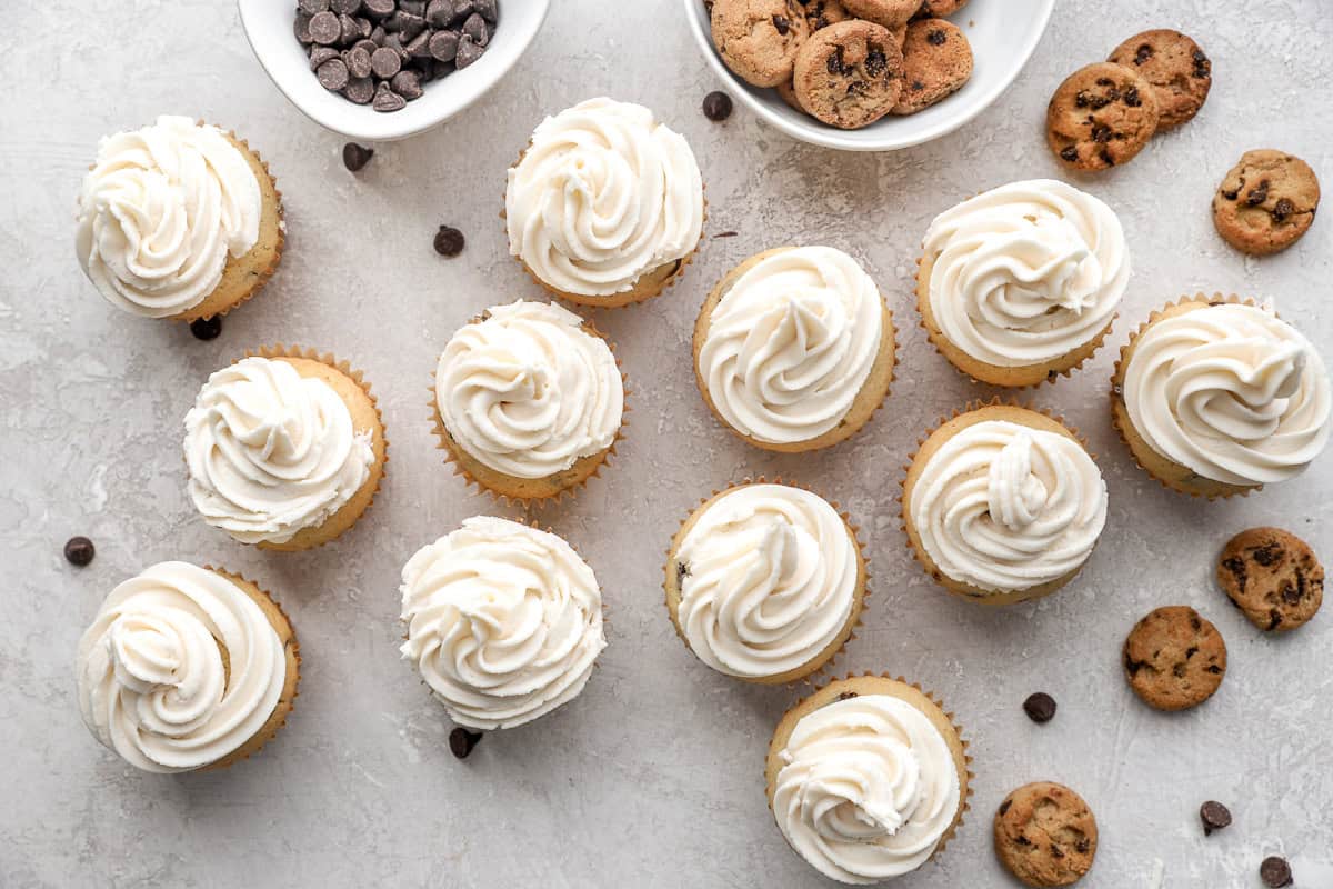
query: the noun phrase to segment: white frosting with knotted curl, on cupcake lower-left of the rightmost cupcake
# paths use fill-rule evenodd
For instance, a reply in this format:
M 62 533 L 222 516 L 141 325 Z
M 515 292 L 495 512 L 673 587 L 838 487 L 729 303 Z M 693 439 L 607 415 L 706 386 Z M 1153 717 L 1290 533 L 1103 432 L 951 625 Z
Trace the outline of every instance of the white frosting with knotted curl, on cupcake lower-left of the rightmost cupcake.
M 985 420 L 930 454 L 908 509 L 945 574 L 1018 592 L 1088 560 L 1106 524 L 1106 482 L 1073 439 Z

